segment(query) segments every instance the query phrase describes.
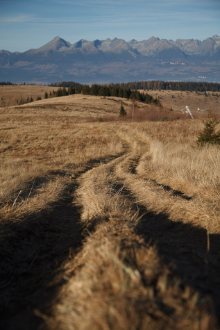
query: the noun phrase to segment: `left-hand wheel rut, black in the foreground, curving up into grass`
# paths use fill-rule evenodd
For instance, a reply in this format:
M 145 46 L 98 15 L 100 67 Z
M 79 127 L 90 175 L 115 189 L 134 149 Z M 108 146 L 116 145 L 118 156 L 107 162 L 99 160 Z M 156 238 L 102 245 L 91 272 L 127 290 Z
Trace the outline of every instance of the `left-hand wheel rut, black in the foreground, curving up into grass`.
M 35 311 L 47 313 L 50 310 L 60 287 L 67 282 L 68 263 L 83 247 L 85 224 L 80 222 L 80 210 L 74 203 L 77 180 L 83 173 L 119 156 L 96 158 L 80 168 L 51 172 L 52 179 L 49 173 L 45 178 L 35 179 L 33 184 L 28 183 L 31 192 L 22 192 L 21 198 L 26 202 L 19 201 L 15 205 L 21 208 L 19 217 L 12 219 L 10 216 L 7 221 L 1 221 L 0 290 L 4 329 L 44 327 L 42 317 Z M 33 207 L 28 204 L 31 206 L 40 193 L 42 199 L 46 187 L 56 181 L 64 185 L 61 195 L 50 203 L 45 196 L 46 204 L 30 212 Z M 11 212 L 11 205 L 4 207 Z M 16 210 L 12 215 L 16 215 Z

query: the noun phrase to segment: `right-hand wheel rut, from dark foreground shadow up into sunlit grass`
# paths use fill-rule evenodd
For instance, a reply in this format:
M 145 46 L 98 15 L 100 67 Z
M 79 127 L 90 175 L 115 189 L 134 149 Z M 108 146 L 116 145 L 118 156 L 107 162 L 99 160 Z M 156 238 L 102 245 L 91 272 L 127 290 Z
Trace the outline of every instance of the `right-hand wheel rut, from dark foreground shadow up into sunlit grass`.
M 139 171 L 142 160 L 150 163 L 149 156 L 140 151 L 142 146 L 141 140 L 136 148 L 135 170 L 130 171 L 134 160 L 129 156 L 115 167 L 115 175 L 124 179 L 125 188 L 130 190 L 140 213 L 146 213 L 137 226 L 138 232 L 146 242 L 156 242 L 162 261 L 171 265 L 169 270 L 172 276 L 180 278 L 181 286 L 190 285 L 201 295 L 212 297 L 219 318 L 219 235 L 208 236 L 207 229 L 199 226 L 206 210 L 196 199 L 148 179 L 147 170 L 145 175 Z

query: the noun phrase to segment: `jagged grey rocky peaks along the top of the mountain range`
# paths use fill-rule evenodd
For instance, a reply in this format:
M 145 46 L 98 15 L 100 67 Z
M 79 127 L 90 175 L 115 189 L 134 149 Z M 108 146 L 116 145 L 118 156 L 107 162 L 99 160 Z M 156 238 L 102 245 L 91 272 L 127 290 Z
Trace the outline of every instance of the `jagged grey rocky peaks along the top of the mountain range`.
M 39 49 L 31 49 L 28 52 L 44 52 L 44 51 L 102 51 L 103 53 L 121 53 L 122 51 L 133 51 L 142 56 L 152 56 L 155 52 L 164 49 L 176 48 L 183 51 L 185 55 L 201 55 L 205 56 L 208 53 L 214 55 L 220 51 L 220 37 L 213 35 L 212 38 L 207 38 L 203 41 L 194 39 L 177 39 L 166 40 L 151 37 L 148 40 L 137 41 L 135 39 L 126 42 L 123 39 L 115 38 L 113 40 L 79 40 L 71 44 L 60 37 L 56 37 Z

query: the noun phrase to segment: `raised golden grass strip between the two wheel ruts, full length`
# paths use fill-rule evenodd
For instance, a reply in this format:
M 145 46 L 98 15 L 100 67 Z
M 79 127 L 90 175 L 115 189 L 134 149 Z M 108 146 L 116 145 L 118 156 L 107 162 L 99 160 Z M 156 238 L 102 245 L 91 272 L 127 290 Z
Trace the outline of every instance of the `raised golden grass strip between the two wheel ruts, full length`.
M 210 297 L 204 290 L 198 294 L 195 281 L 187 282 L 187 274 L 170 265 L 176 261 L 170 249 L 178 246 L 175 233 L 179 240 L 183 232 L 191 238 L 203 233 L 192 233 L 166 213 L 150 213 L 144 204 L 139 213 L 146 215 L 139 219 L 133 183 L 139 180 L 135 168 L 142 153 L 130 146 L 78 180 L 85 243 L 69 265 L 69 282 L 51 312 L 55 319 L 44 315 L 44 320 L 50 329 L 57 324 L 60 329 L 217 329 Z M 164 245 L 166 236 L 170 245 Z M 191 259 L 184 263 L 188 270 Z M 191 270 L 197 274 L 196 267 Z

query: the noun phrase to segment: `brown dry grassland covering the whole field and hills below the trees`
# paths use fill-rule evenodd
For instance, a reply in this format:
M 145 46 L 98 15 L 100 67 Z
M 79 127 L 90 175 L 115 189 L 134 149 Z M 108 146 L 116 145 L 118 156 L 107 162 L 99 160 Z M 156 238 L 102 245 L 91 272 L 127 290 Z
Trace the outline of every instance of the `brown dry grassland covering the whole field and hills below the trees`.
M 219 99 L 152 94 L 163 107 L 134 117 L 126 99 L 4 94 L 2 329 L 220 329 L 220 148 L 196 146 Z

